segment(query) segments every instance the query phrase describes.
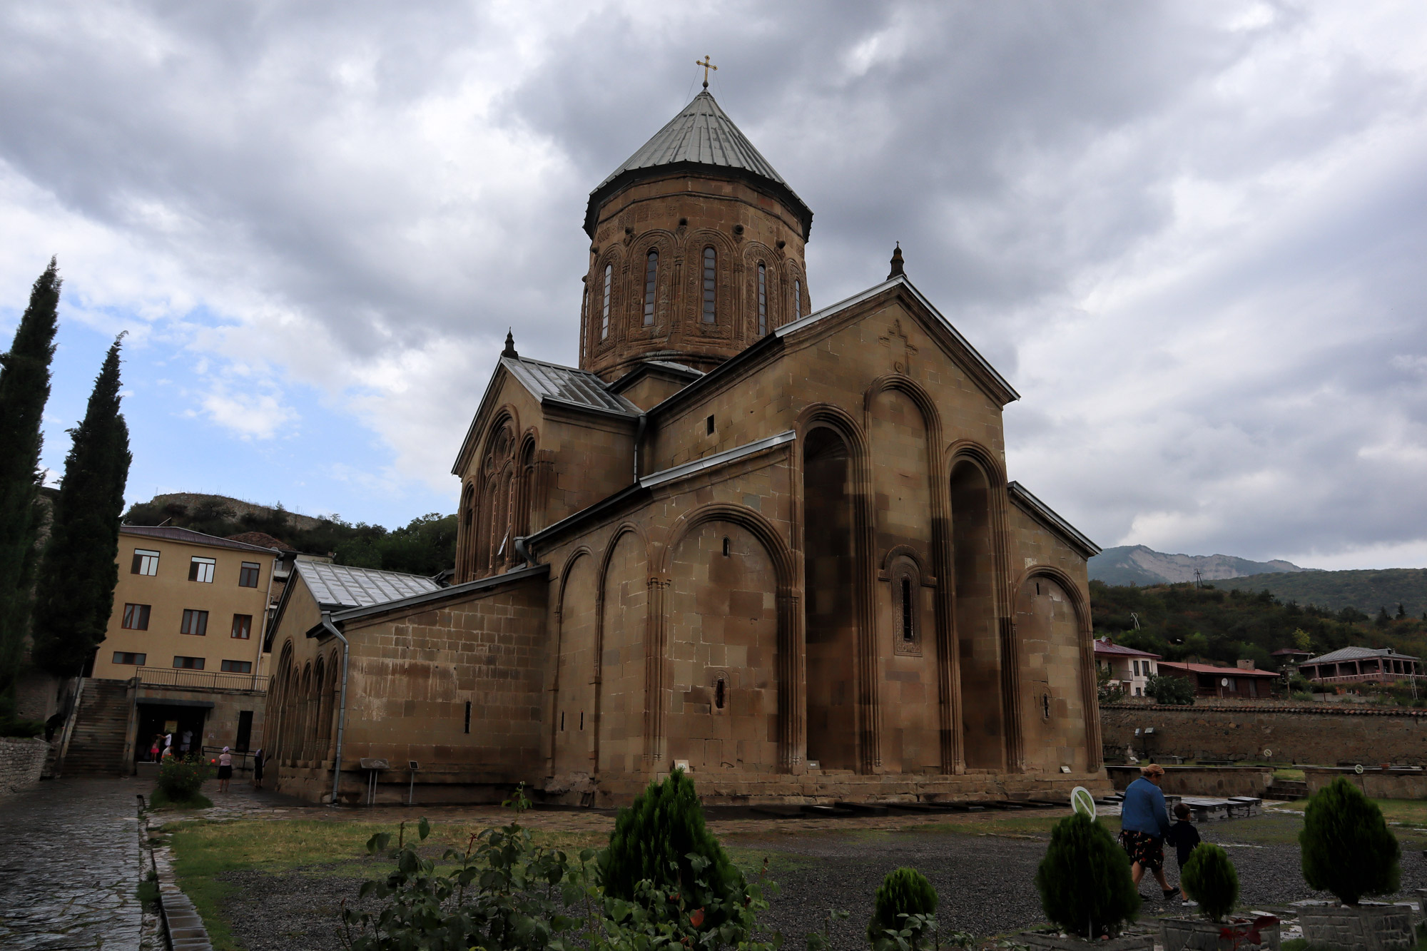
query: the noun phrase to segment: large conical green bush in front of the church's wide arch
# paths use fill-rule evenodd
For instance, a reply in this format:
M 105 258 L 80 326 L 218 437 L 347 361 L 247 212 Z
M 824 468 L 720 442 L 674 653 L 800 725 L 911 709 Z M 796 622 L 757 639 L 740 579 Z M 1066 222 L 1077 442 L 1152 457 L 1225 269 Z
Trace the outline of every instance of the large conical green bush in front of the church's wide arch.
M 704 825 L 684 770 L 651 781 L 632 807 L 619 810 L 609 848 L 599 854 L 599 878 L 614 898 L 635 901 L 639 882 L 648 881 L 692 898 L 695 908 L 738 904 L 745 891 L 743 874 Z M 708 927 L 721 924 L 719 914 L 709 914 Z

